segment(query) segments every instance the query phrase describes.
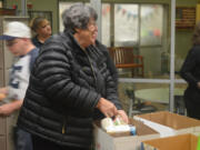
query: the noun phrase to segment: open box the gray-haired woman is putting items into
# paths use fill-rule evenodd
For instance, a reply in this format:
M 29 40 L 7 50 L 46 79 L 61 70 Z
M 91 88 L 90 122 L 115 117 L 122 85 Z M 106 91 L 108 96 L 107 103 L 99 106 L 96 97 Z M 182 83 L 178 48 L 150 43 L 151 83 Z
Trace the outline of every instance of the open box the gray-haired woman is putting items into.
M 160 134 L 142 122 L 130 119 L 137 128 L 137 136 L 130 133 L 108 134 L 100 123 L 94 123 L 94 150 L 140 150 L 141 141 L 159 138 Z

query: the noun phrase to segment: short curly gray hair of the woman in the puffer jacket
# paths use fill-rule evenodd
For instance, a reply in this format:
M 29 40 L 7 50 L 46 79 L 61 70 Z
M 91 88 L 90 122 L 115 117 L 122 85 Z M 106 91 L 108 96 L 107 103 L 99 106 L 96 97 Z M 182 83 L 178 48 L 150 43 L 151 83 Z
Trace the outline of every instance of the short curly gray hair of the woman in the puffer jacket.
M 96 10 L 83 3 L 76 3 L 62 13 L 62 20 L 66 31 L 76 32 L 78 29 L 87 29 L 90 19 L 98 19 Z

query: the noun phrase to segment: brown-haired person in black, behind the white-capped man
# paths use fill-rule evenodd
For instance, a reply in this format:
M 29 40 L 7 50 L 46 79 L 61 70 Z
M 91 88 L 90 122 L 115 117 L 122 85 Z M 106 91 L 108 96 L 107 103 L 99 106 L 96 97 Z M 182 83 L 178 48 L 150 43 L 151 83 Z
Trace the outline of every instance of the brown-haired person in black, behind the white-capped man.
M 40 48 L 44 41 L 51 36 L 50 22 L 43 17 L 33 18 L 30 22 L 30 28 L 34 32 L 32 43 Z

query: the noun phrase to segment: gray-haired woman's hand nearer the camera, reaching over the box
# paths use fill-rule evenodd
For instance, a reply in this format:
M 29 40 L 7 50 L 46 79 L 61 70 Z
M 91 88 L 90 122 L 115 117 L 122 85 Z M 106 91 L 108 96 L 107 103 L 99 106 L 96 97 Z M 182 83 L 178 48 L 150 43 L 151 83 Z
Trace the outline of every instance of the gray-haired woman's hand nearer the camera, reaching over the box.
M 113 118 L 118 114 L 116 106 L 109 100 L 101 98 L 97 104 L 97 108 L 109 118 Z

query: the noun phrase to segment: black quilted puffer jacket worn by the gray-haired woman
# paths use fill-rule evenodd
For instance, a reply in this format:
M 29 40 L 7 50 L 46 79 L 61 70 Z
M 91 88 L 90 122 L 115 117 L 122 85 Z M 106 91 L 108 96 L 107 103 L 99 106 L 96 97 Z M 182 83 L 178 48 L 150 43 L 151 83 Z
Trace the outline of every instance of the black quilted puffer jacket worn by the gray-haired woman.
M 50 38 L 30 77 L 18 126 L 64 146 L 88 148 L 101 97 L 121 109 L 117 83 L 100 49 L 83 51 L 71 33 Z

